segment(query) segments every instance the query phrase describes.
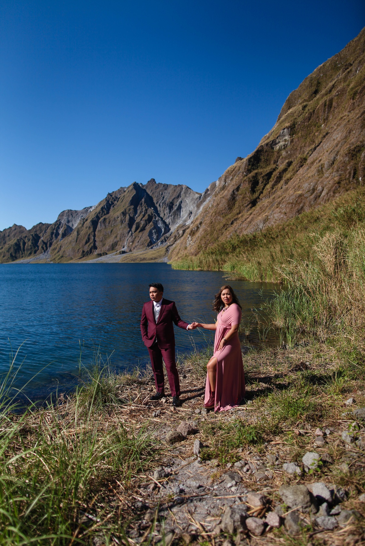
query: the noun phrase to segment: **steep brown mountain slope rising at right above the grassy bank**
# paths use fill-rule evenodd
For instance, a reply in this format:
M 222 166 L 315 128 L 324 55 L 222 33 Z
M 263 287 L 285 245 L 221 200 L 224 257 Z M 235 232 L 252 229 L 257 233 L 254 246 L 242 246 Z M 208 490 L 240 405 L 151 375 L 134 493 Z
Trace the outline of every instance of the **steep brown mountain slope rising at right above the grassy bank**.
M 363 185 L 365 29 L 293 91 L 270 133 L 217 181 L 210 204 L 172 248 L 198 256 L 232 234 L 253 233 Z

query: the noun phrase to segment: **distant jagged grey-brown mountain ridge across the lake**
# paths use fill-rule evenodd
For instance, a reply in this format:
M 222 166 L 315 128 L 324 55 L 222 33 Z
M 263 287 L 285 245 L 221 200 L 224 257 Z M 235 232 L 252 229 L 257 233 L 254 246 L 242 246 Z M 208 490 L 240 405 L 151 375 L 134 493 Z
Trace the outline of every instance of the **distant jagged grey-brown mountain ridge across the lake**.
M 201 194 L 154 179 L 145 185 L 134 182 L 107 194 L 97 205 L 61 212 L 53 224 L 40 223 L 29 230 L 14 224 L 4 229 L 0 232 L 0 262 L 45 253 L 52 261 L 67 262 L 165 244 L 183 235 L 214 188 L 213 183 Z

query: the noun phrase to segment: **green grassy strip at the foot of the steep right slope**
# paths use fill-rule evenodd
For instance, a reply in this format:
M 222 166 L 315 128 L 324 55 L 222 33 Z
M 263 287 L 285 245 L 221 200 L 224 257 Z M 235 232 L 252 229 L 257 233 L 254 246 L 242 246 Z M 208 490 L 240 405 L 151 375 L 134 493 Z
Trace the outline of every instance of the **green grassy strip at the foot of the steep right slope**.
M 326 233 L 344 237 L 365 220 L 365 191 L 359 188 L 288 222 L 247 235 L 232 235 L 198 256 L 173 260 L 174 269 L 222 270 L 249 281 L 278 282 L 291 260 L 311 260 Z

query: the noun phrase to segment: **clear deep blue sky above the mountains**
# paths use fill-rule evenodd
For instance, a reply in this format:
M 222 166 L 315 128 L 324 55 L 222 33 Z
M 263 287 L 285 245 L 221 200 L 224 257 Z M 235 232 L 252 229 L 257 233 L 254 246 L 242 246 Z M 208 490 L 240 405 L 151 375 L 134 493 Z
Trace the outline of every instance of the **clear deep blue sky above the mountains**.
M 363 0 L 2 0 L 0 229 L 217 180 L 365 25 Z

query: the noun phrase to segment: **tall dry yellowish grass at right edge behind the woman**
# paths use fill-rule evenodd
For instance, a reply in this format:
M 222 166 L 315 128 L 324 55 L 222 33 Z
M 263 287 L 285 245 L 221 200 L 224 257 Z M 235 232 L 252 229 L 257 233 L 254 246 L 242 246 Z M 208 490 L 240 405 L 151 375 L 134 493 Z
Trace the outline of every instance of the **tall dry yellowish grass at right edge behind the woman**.
M 365 345 L 365 230 L 336 230 L 314 246 L 313 258 L 280 268 L 288 289 L 267 304 L 273 322 L 289 340 L 297 335 L 342 336 Z

